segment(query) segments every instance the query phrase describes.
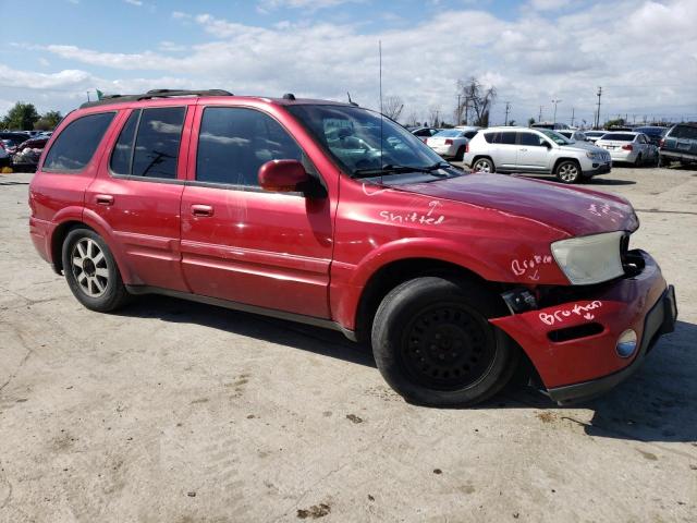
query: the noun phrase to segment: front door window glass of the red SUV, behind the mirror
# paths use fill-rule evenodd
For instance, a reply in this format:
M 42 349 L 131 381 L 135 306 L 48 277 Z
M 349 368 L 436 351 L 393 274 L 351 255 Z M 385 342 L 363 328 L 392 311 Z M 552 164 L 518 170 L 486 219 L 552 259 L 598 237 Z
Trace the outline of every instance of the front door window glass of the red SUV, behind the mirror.
M 230 185 L 259 185 L 259 168 L 270 160 L 302 161 L 303 150 L 271 117 L 254 109 L 208 107 L 198 136 L 196 180 Z

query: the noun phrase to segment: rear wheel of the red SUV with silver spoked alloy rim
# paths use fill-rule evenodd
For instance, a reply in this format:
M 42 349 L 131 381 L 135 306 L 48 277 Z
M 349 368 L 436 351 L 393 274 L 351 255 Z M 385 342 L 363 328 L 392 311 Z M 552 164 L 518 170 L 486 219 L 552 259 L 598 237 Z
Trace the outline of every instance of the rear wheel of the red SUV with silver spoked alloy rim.
M 91 229 L 76 228 L 68 233 L 62 259 L 68 287 L 85 307 L 108 313 L 129 301 L 130 294 L 107 242 Z

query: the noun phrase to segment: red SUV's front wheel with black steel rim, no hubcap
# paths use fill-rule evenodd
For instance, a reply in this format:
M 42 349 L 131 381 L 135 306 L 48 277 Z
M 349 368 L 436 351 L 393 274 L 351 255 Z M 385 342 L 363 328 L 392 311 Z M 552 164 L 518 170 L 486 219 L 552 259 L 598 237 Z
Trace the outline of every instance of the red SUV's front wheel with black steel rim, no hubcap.
M 380 374 L 405 400 L 467 406 L 500 391 L 518 361 L 517 345 L 487 318 L 506 314 L 480 284 L 421 277 L 394 288 L 372 324 Z

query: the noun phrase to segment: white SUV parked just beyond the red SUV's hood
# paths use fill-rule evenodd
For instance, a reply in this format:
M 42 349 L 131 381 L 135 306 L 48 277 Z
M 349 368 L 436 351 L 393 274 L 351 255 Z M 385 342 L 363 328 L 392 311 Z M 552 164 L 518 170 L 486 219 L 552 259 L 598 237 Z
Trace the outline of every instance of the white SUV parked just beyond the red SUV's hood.
M 585 142 L 571 142 L 549 129 L 490 127 L 467 144 L 464 163 L 474 171 L 554 174 L 576 183 L 610 172 L 610 154 Z

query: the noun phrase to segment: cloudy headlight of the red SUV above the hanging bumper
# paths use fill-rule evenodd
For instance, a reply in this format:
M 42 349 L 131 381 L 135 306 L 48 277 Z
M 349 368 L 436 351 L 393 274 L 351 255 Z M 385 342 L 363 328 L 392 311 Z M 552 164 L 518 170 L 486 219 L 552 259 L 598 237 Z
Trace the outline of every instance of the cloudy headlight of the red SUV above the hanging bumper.
M 561 240 L 551 245 L 559 267 L 574 285 L 608 281 L 624 273 L 620 258 L 623 231 Z

